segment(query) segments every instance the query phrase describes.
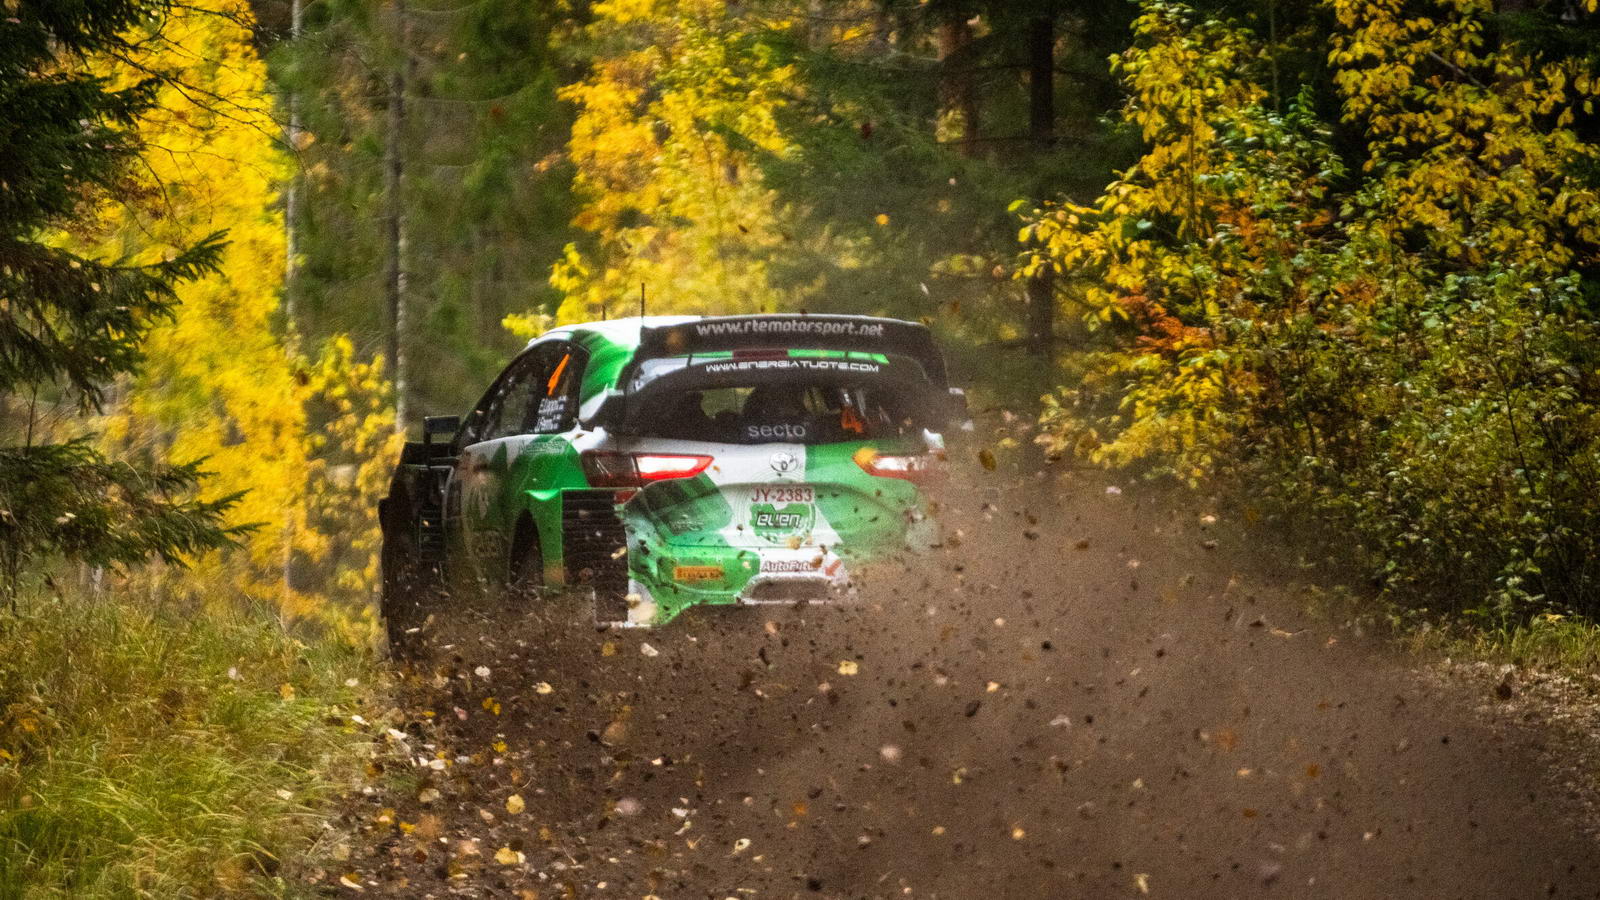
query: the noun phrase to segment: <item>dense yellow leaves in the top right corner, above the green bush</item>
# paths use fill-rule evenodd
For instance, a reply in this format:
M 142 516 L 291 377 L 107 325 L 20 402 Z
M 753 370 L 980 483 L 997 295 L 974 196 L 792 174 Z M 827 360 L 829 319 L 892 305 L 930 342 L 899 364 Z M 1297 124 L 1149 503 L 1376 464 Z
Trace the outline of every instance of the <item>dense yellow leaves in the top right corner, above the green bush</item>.
M 1368 135 L 1363 170 L 1392 187 L 1390 215 L 1370 227 L 1397 240 L 1424 226 L 1464 266 L 1549 274 L 1600 247 L 1600 194 L 1571 176 L 1600 157 L 1570 128 L 1571 110 L 1600 96 L 1590 62 L 1491 46 L 1485 0 L 1442 0 L 1432 16 L 1398 0 L 1328 6 L 1341 26 L 1328 61 L 1344 119 Z M 1426 77 L 1440 59 L 1461 77 Z

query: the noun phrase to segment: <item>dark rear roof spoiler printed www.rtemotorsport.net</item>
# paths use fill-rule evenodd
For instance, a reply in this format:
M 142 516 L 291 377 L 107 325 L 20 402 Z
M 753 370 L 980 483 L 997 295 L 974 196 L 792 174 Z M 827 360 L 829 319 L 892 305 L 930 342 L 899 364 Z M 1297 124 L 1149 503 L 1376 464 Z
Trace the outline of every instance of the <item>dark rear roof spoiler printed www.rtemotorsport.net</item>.
M 717 315 L 640 331 L 638 351 L 621 373 L 626 384 L 643 360 L 747 349 L 837 349 L 915 359 L 938 388 L 949 386 L 944 354 L 926 325 L 872 315 Z

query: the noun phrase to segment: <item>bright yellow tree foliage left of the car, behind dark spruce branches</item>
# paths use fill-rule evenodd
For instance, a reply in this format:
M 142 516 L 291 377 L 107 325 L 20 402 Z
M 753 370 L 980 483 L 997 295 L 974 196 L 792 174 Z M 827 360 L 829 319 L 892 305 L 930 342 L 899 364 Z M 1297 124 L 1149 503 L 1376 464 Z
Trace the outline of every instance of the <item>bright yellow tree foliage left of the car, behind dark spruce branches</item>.
M 240 495 L 229 520 L 254 525 L 240 551 L 195 560 L 192 578 L 165 589 L 227 588 L 341 620 L 328 601 L 365 601 L 376 583 L 374 480 L 398 437 L 381 364 L 357 362 L 349 341 L 307 362 L 278 338 L 290 167 L 251 22 L 243 0 L 174 8 L 141 58 L 106 66 L 120 83 L 139 67 L 176 77 L 139 123 L 136 200 L 107 202 L 69 240 L 138 261 L 227 231 L 219 271 L 179 285 L 173 319 L 150 331 L 104 437 L 118 453 L 206 460 L 203 495 Z

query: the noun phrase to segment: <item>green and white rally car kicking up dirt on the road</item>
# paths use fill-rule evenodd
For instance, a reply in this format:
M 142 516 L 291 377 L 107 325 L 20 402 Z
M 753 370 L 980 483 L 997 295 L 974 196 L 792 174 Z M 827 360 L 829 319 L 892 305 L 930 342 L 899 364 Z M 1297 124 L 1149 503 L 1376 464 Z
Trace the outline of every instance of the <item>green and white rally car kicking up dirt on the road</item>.
M 459 591 L 592 589 L 605 625 L 821 601 L 934 540 L 922 485 L 966 416 L 928 330 L 861 315 L 552 330 L 379 504 L 392 639 Z

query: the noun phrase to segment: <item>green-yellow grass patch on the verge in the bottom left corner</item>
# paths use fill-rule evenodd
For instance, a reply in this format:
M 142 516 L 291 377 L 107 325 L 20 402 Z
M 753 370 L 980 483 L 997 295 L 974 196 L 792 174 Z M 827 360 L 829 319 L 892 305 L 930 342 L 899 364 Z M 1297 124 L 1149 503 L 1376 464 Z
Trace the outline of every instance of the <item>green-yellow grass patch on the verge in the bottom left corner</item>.
M 368 743 L 370 663 L 269 613 L 0 613 L 0 900 L 285 892 Z

